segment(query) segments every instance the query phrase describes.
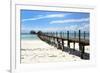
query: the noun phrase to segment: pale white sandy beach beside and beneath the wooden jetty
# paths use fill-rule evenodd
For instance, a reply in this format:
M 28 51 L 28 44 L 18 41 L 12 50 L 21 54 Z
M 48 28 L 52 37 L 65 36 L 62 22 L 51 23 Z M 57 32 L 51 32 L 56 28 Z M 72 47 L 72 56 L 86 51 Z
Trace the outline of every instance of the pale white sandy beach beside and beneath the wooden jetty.
M 71 44 L 71 47 L 73 47 L 73 44 Z M 76 43 L 76 49 L 78 50 L 77 43 Z M 21 41 L 21 63 L 27 64 L 27 63 L 80 61 L 80 60 L 81 60 L 80 57 L 58 50 L 55 47 L 50 46 L 41 40 Z

